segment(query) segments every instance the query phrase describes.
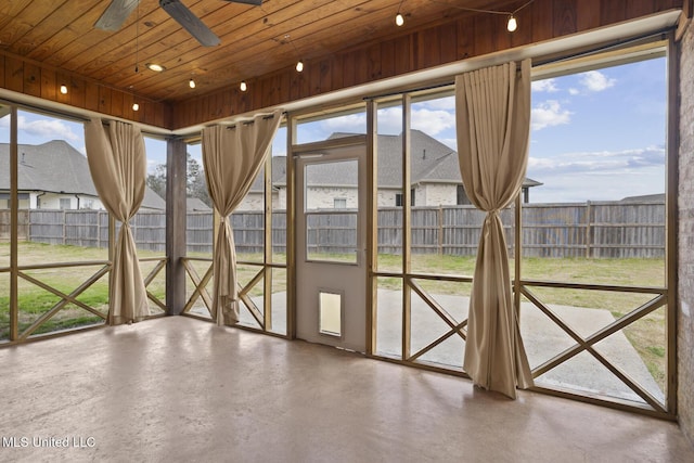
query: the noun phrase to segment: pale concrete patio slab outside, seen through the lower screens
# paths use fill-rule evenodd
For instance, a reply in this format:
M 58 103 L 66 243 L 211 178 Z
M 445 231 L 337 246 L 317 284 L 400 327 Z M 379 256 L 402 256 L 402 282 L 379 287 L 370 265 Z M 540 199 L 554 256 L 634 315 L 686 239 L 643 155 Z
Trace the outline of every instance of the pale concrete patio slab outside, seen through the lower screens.
M 468 297 L 434 295 L 459 322 L 464 320 Z M 273 325 L 285 326 L 285 298 L 283 292 L 272 295 Z M 254 299 L 261 307 L 261 298 Z M 402 294 L 399 291 L 378 290 L 376 353 L 386 357 L 401 356 Z M 612 323 L 615 318 L 608 310 L 569 306 L 551 306 L 551 309 L 582 336 L 588 336 Z M 207 316 L 204 307 L 195 309 Z M 242 310 L 241 323 L 257 326 L 247 310 Z M 412 353 L 449 331 L 449 326 L 416 295 L 412 295 Z M 520 331 L 530 368 L 536 368 L 576 343 L 552 320 L 529 303 L 522 304 Z M 617 332 L 595 345 L 595 349 L 613 364 L 627 373 L 658 401 L 665 401 L 664 391 L 656 384 L 643 360 L 622 332 Z M 464 342 L 453 335 L 421 357 L 422 361 L 462 369 Z M 540 386 L 560 387 L 596 394 L 617 399 L 644 403 L 644 400 L 617 378 L 592 355 L 583 351 L 536 380 Z

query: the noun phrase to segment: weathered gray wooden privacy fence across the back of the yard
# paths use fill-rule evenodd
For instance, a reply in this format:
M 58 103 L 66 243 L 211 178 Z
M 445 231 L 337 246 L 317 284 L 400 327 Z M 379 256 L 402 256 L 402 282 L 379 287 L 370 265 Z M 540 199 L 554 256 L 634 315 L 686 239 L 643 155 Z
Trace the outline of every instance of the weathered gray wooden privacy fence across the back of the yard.
M 485 214 L 473 206 L 414 207 L 411 215 L 413 253 L 470 256 L 477 243 Z M 9 241 L 9 214 L 0 210 L 0 241 Z M 510 252 L 514 243 L 514 210 L 501 211 Z M 7 219 L 7 220 L 5 220 Z M 309 248 L 313 253 L 354 253 L 355 210 L 311 213 L 307 222 Z M 108 245 L 108 215 L 104 210 L 30 210 L 20 214 L 20 237 L 49 244 Z M 526 257 L 664 257 L 664 203 L 527 204 L 523 206 L 523 254 Z M 240 253 L 261 253 L 264 215 L 239 211 L 231 216 Z M 131 222 L 138 248 L 164 252 L 164 213 L 142 211 Z M 189 253 L 211 253 L 211 213 L 189 213 Z M 380 208 L 378 252 L 401 254 L 402 208 Z M 272 215 L 272 246 L 286 252 L 286 215 Z

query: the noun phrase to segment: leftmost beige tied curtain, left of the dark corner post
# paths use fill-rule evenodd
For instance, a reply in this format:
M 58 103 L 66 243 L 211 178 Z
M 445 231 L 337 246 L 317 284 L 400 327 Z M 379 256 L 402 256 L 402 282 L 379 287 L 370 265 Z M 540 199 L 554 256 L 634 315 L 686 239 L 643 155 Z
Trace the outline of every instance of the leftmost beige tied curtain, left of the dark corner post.
M 104 207 L 120 221 L 111 270 L 110 324 L 136 322 L 149 314 L 147 294 L 140 272 L 130 219 L 144 197 L 146 155 L 140 130 L 101 119 L 85 125 L 89 170 Z

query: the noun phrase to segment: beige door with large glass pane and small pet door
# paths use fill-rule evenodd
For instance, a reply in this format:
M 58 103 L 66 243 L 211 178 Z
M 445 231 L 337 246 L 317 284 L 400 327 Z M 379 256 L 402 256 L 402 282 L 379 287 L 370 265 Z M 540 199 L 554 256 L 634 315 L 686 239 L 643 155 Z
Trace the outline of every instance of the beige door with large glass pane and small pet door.
M 365 137 L 294 149 L 297 337 L 365 351 Z

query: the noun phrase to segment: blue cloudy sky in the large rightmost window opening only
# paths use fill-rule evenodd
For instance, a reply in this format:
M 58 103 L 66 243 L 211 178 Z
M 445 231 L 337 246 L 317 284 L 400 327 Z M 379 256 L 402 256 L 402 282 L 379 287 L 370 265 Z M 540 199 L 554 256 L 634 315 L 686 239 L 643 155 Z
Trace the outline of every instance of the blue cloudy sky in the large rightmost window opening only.
M 665 192 L 666 61 L 535 82 L 528 177 L 538 202 Z

